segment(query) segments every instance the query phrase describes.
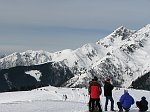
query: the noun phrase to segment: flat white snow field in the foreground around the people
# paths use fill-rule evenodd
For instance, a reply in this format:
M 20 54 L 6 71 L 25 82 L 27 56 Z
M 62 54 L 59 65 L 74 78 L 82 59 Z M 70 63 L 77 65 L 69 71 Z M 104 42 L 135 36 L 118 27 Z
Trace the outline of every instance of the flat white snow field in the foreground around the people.
M 124 88 L 113 90 L 115 110 L 118 110 L 116 102 L 123 91 Z M 147 101 L 150 102 L 150 91 L 134 89 L 128 89 L 128 91 L 135 101 L 139 101 L 142 96 L 145 96 Z M 67 95 L 66 100 L 64 95 Z M 88 101 L 87 89 L 48 86 L 32 91 L 0 93 L 0 112 L 85 112 L 88 110 Z M 105 97 L 102 94 L 101 105 L 103 109 L 104 104 Z M 110 102 L 108 109 L 110 109 Z M 132 105 L 130 112 L 137 111 L 136 105 Z

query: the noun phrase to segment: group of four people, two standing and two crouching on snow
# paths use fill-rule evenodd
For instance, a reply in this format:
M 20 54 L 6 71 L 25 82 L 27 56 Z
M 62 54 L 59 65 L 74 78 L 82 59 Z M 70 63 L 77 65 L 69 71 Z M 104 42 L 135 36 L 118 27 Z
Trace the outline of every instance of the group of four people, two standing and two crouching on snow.
M 105 80 L 104 83 L 104 96 L 106 97 L 105 107 L 104 110 L 107 111 L 108 101 L 111 102 L 111 111 L 114 110 L 114 99 L 112 97 L 112 90 L 114 86 L 111 84 L 111 80 L 108 78 Z M 95 106 L 98 107 L 98 111 L 102 112 L 102 107 L 100 105 L 100 95 L 102 94 L 101 85 L 98 82 L 98 78 L 94 76 L 92 81 L 89 82 L 89 112 L 93 112 Z M 117 102 L 117 106 L 119 108 L 119 112 L 125 110 L 128 112 L 130 110 L 131 105 L 135 103 L 134 98 L 129 94 L 127 90 L 124 90 L 124 94 L 120 97 L 120 100 Z M 142 97 L 141 101 L 136 102 L 139 111 L 147 111 L 148 110 L 148 102 L 146 97 Z

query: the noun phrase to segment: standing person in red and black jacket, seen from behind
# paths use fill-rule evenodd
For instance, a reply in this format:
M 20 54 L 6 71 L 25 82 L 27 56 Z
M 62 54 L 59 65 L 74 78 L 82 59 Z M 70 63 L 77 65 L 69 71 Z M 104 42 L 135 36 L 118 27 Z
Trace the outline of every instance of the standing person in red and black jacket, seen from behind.
M 99 112 L 102 112 L 101 106 L 100 106 L 100 95 L 102 93 L 101 85 L 98 83 L 98 78 L 95 76 L 94 79 L 89 83 L 89 111 L 92 112 L 95 107 L 99 108 Z

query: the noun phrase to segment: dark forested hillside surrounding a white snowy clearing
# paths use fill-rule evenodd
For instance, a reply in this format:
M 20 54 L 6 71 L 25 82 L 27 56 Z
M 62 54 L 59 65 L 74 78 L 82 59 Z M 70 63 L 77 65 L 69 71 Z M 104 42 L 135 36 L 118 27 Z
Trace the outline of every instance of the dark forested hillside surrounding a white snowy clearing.
M 26 74 L 27 71 L 41 72 L 40 81 Z M 18 66 L 0 70 L 0 92 L 24 91 L 42 86 L 62 86 L 73 77 L 68 67 L 61 63 L 46 63 L 34 66 Z

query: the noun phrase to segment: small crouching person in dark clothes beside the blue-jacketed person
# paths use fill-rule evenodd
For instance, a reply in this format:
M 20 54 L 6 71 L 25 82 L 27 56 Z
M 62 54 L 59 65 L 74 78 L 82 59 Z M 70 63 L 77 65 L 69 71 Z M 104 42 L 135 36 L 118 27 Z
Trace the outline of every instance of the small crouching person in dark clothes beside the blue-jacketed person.
M 147 111 L 148 110 L 148 102 L 144 96 L 141 98 L 141 101 L 136 102 L 136 105 L 140 111 Z

